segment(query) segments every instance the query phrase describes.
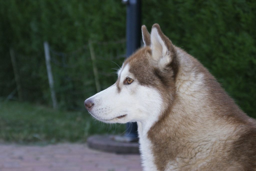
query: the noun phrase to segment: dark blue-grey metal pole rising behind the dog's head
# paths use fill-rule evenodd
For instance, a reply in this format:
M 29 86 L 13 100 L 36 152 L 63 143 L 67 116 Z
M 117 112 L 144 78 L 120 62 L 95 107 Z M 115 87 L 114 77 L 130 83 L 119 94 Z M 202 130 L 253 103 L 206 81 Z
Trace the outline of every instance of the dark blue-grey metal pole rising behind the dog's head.
M 141 47 L 141 0 L 123 0 L 126 4 L 126 57 Z M 126 124 L 126 134 L 131 141 L 137 140 L 137 123 Z

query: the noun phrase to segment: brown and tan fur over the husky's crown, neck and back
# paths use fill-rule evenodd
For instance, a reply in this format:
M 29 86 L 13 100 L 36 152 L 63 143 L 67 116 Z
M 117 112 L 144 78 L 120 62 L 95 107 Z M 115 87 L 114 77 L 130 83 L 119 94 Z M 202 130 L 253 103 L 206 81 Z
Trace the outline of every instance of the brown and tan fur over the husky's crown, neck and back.
M 179 170 L 256 170 L 255 120 L 235 104 L 200 62 L 175 47 L 159 25 L 154 27 L 171 54 L 169 69 L 161 71 L 152 65 L 150 37 L 145 26 L 142 32 L 146 47 L 134 53 L 124 65 L 129 63 L 130 72 L 138 82 L 156 88 L 164 99 L 166 108 L 148 131 L 157 169 L 163 171 L 170 161 L 176 161 Z M 189 73 L 201 74 L 204 81 L 190 95 L 196 99 L 192 101 L 184 99 L 186 96 L 177 87 L 177 82 L 186 81 L 180 80 L 182 75 Z M 204 157 L 200 158 L 201 153 Z M 200 165 L 204 161 L 207 164 Z

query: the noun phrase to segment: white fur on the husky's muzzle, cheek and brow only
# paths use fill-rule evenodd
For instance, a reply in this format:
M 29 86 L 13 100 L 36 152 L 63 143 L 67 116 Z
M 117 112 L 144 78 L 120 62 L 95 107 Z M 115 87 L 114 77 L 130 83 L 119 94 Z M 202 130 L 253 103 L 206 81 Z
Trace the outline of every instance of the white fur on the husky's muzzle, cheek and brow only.
M 132 78 L 133 83 L 124 85 L 123 81 L 126 77 Z M 157 118 L 162 104 L 161 95 L 158 91 L 138 84 L 136 78 L 129 72 L 129 64 L 121 68 L 119 78 L 120 93 L 115 83 L 90 97 L 89 99 L 94 103 L 90 113 L 95 118 L 108 123 L 139 121 L 144 124 L 144 122 L 152 122 L 150 121 L 152 116 Z M 125 114 L 127 116 L 124 118 L 116 118 Z

